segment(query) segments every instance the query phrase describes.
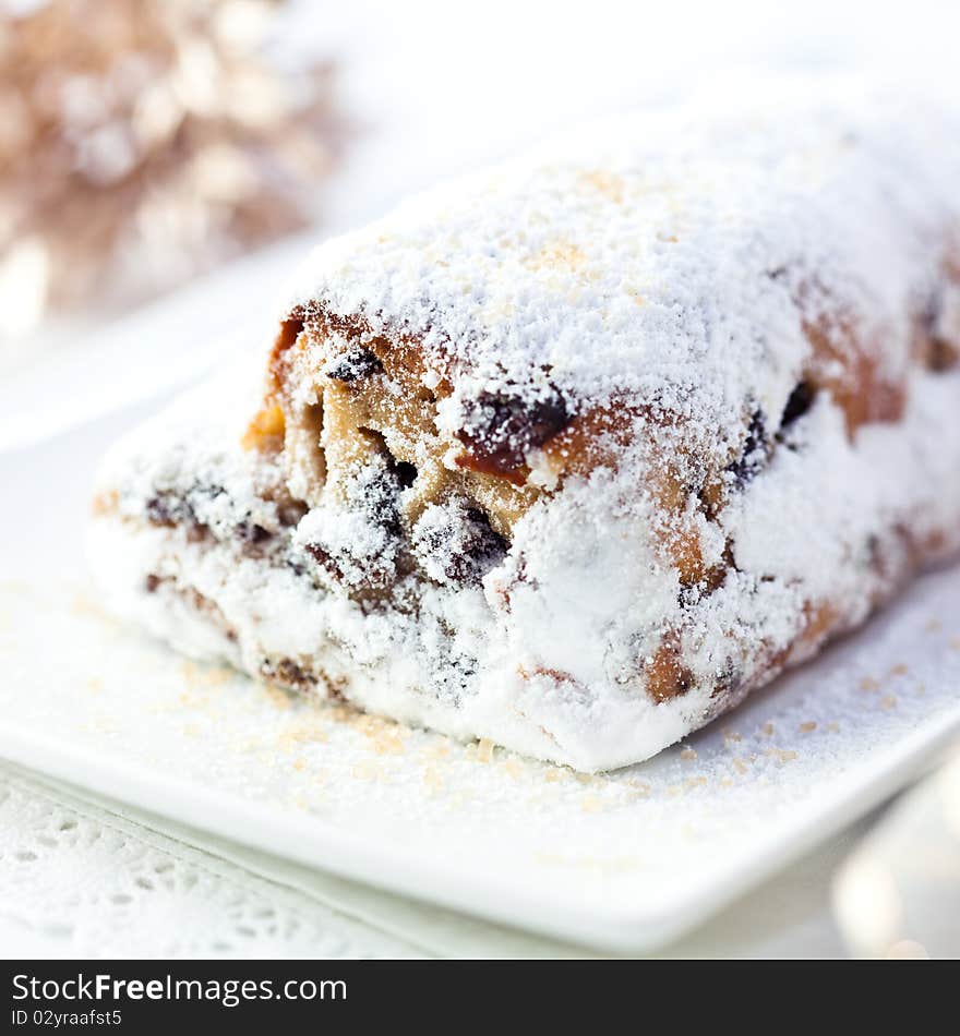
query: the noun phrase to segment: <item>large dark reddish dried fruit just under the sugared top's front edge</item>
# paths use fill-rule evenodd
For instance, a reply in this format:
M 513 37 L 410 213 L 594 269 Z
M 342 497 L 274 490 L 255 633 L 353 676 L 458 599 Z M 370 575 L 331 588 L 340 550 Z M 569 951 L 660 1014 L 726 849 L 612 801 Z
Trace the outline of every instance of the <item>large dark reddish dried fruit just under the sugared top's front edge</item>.
M 571 414 L 560 393 L 540 400 L 482 393 L 466 406 L 457 438 L 467 451 L 457 458 L 457 463 L 523 484 L 525 480 L 518 471 L 525 467 L 527 454 L 549 442 L 569 422 Z

